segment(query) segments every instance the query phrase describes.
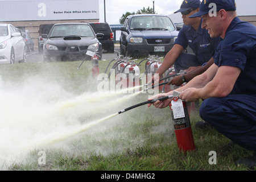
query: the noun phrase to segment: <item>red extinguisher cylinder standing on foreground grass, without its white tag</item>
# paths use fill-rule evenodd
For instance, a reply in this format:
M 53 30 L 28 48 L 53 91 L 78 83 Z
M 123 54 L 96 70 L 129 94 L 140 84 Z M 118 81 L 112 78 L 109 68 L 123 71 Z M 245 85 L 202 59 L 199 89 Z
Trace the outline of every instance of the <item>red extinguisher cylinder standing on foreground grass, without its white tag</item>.
M 185 101 L 182 101 L 185 117 L 175 118 L 174 110 L 172 107 L 174 102 L 175 101 L 172 101 L 172 103 L 170 104 L 170 109 L 171 109 L 172 121 L 174 122 L 174 130 L 175 130 L 175 136 L 177 140 L 177 146 L 179 147 L 180 151 L 184 151 L 184 152 L 195 150 L 196 147 L 193 139 L 187 104 Z

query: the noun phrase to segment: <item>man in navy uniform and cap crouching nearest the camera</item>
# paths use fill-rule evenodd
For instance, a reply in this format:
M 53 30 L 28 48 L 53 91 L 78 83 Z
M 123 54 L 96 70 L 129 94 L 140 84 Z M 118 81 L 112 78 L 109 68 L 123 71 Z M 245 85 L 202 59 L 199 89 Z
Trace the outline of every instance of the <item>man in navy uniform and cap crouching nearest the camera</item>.
M 223 40 L 214 64 L 177 89 L 184 89 L 179 97 L 188 102 L 204 99 L 201 118 L 234 143 L 254 151 L 237 164 L 256 167 L 256 27 L 237 17 L 234 0 L 205 0 L 191 17 L 196 16 L 203 18 L 202 28 L 210 37 Z M 154 106 L 168 104 L 170 100 L 155 102 Z

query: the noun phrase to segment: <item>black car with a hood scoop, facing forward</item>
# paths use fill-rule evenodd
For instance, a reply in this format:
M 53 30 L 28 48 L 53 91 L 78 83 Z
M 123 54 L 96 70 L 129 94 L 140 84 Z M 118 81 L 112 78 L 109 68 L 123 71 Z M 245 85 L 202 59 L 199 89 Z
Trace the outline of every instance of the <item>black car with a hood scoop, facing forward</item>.
M 97 35 L 102 36 L 102 35 Z M 44 61 L 90 60 L 86 55 L 92 51 L 102 56 L 102 46 L 88 23 L 55 24 L 43 46 Z

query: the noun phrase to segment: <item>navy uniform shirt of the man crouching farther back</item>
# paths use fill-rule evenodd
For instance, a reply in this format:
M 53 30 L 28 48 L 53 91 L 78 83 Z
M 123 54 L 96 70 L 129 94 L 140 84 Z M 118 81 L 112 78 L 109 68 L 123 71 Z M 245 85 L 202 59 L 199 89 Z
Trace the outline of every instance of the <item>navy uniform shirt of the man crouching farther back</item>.
M 202 21 L 201 19 L 197 31 L 192 26 L 183 26 L 175 40 L 175 44 L 179 44 L 184 49 L 189 46 L 201 65 L 212 58 L 214 49 L 220 43 L 220 38 L 210 38 L 208 31 L 201 28 Z

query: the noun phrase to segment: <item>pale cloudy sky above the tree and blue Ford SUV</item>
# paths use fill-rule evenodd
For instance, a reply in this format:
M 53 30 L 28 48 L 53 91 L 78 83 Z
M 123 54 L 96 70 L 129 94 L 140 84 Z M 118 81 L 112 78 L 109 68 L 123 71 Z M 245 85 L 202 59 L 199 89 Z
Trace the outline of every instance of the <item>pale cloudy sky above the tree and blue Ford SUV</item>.
M 180 9 L 183 0 L 154 0 L 155 12 L 158 14 L 170 15 Z M 126 12 L 137 12 L 143 7 L 153 8 L 152 0 L 105 0 L 106 4 L 106 22 L 109 24 L 119 24 L 119 19 Z M 100 22 L 105 22 L 104 18 L 104 0 L 99 0 Z

